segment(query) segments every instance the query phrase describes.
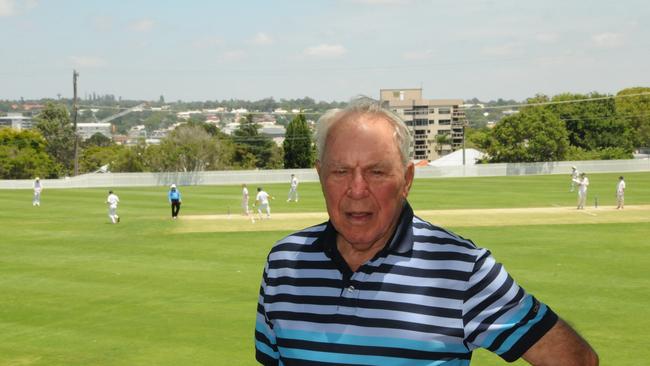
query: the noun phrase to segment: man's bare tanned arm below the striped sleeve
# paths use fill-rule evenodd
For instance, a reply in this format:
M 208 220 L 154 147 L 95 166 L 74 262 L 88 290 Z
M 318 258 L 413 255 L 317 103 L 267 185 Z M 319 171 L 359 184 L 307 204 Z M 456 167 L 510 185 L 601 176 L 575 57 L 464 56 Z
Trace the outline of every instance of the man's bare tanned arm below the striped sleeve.
M 535 366 L 598 365 L 598 355 L 562 319 L 522 356 Z

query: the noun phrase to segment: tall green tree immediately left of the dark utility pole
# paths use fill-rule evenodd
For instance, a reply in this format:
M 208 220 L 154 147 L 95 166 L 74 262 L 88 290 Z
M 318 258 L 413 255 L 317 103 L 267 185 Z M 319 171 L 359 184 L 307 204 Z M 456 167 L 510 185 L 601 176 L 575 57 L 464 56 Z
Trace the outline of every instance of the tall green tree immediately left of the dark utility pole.
M 74 127 L 65 106 L 48 102 L 35 118 L 36 128 L 47 141 L 47 152 L 70 174 L 74 165 Z

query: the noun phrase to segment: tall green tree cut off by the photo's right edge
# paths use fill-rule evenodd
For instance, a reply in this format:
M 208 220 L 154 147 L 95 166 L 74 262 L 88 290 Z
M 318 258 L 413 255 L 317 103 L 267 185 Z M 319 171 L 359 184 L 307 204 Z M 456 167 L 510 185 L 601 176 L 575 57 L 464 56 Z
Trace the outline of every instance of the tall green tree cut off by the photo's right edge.
M 650 88 L 623 89 L 616 96 L 616 114 L 632 129 L 634 146 L 650 147 Z

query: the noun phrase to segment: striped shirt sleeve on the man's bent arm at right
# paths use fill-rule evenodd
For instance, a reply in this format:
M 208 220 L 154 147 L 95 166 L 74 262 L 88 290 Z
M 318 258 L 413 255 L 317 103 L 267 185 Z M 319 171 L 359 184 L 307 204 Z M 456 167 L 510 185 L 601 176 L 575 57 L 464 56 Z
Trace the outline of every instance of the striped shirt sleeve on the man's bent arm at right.
M 465 342 L 508 362 L 520 358 L 555 325 L 557 315 L 526 293 L 490 252 L 481 249 L 463 304 Z

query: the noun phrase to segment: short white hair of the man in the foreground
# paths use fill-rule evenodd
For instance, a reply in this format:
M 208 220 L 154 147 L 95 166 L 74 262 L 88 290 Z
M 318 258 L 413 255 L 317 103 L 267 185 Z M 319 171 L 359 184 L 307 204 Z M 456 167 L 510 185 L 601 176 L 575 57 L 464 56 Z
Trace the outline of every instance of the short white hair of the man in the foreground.
M 330 109 L 318 119 L 316 127 L 316 149 L 318 151 L 318 160 L 323 161 L 327 137 L 330 130 L 336 124 L 346 120 L 352 115 L 375 115 L 383 117 L 395 129 L 393 137 L 400 152 L 400 157 L 404 166 L 410 161 L 409 148 L 411 145 L 411 134 L 404 121 L 395 113 L 386 108 L 382 108 L 380 103 L 372 98 L 358 96 L 353 98 L 350 103 L 343 109 Z

